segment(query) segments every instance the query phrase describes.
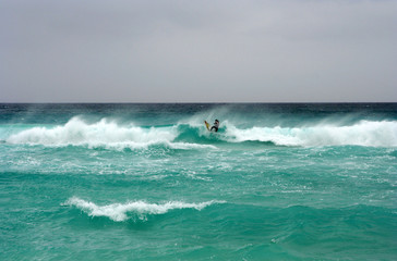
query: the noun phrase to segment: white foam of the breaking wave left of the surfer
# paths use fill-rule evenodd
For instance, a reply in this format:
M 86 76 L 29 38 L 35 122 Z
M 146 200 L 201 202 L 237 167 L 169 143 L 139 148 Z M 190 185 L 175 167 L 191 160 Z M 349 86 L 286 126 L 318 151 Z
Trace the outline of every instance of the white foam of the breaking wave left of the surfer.
M 11 135 L 7 142 L 45 146 L 86 145 L 88 147 L 134 149 L 157 144 L 170 144 L 177 136 L 176 127 L 121 126 L 106 119 L 88 124 L 80 117 L 73 117 L 63 126 L 34 127 Z

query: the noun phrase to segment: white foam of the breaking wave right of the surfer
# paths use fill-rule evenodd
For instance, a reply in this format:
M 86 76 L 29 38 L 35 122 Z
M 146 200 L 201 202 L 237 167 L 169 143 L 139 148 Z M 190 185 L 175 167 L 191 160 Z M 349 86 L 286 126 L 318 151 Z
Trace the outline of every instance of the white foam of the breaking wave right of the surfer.
M 252 127 L 226 129 L 225 139 L 232 142 L 248 140 L 272 141 L 282 146 L 369 146 L 396 147 L 397 122 L 361 121 L 351 126 L 320 124 L 304 127 Z

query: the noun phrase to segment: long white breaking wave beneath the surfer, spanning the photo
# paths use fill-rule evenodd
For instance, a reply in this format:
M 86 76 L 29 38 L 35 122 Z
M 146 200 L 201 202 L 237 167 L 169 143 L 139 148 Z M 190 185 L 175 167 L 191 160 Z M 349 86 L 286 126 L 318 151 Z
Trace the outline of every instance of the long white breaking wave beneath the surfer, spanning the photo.
M 165 146 L 171 149 L 216 148 L 220 142 L 237 144 L 260 141 L 276 146 L 366 146 L 396 147 L 397 122 L 360 121 L 352 125 L 322 123 L 308 126 L 251 126 L 239 127 L 228 121 L 218 133 L 209 133 L 201 123 L 179 123 L 169 126 L 120 125 L 103 119 L 86 123 L 80 117 L 67 124 L 49 127 L 31 127 L 10 135 L 5 142 L 44 146 L 87 146 L 110 149 L 145 149 Z

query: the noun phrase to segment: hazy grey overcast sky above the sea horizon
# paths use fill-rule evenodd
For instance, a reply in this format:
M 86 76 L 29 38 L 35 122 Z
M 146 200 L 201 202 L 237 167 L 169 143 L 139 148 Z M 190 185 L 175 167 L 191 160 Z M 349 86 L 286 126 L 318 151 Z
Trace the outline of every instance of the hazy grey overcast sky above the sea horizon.
M 396 0 L 0 0 L 0 102 L 397 101 Z

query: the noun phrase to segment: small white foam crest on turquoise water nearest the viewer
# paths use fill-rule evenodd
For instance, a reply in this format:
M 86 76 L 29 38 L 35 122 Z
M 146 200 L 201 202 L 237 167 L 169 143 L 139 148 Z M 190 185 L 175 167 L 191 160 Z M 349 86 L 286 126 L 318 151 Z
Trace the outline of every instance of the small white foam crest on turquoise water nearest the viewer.
M 201 203 L 185 203 L 180 201 L 170 201 L 163 204 L 147 203 L 144 201 L 133 201 L 127 203 L 112 203 L 107 206 L 97 206 L 91 201 L 85 201 L 77 197 L 70 198 L 64 206 L 74 206 L 89 216 L 108 216 L 109 219 L 121 222 L 129 219 L 129 212 L 134 213 L 140 219 L 145 219 L 147 214 L 165 214 L 175 209 L 195 209 L 202 210 L 213 203 L 224 203 L 225 201 L 206 201 Z

